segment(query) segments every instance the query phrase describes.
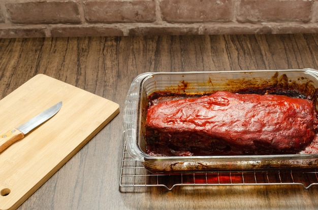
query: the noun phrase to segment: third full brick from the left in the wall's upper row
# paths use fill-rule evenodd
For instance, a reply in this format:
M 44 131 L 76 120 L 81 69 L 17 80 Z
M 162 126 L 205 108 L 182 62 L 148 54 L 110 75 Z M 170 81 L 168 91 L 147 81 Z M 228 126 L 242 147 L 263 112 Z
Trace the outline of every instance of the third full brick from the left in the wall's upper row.
M 163 0 L 160 9 L 167 22 L 231 21 L 232 0 Z

